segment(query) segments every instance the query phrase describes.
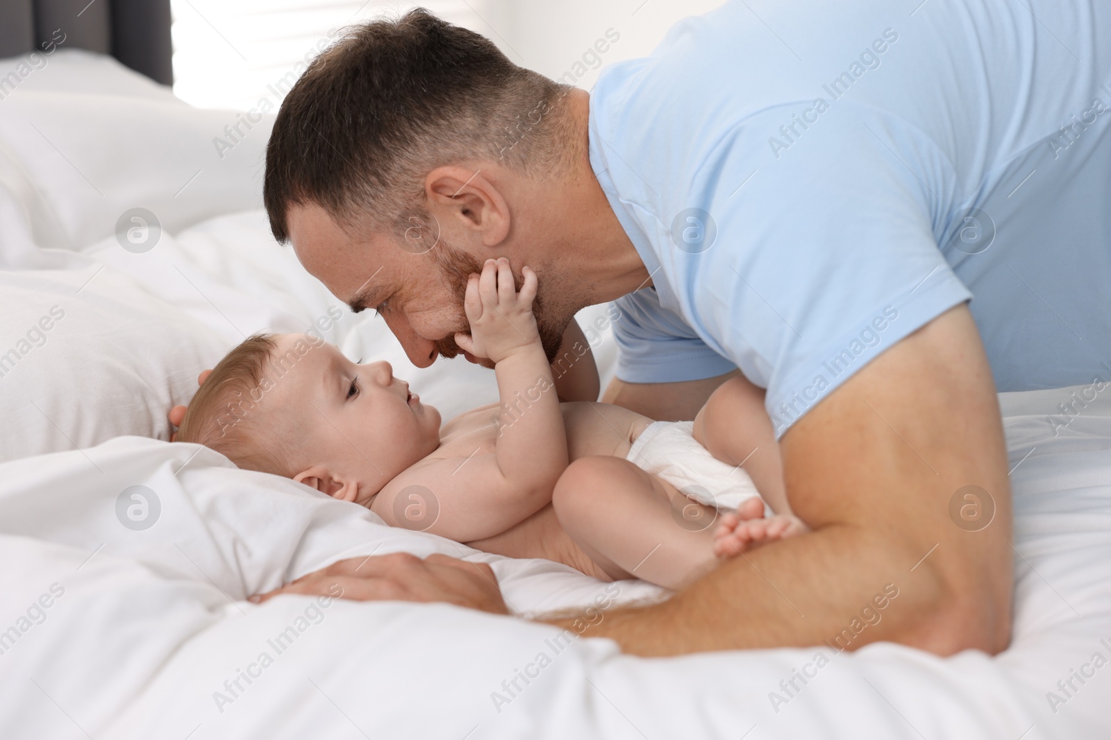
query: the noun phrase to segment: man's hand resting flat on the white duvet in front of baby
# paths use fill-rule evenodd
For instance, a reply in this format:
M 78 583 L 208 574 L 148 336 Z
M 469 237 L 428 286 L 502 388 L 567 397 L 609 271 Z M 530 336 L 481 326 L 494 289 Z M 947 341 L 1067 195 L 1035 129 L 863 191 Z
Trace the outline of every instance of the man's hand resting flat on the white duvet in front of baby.
M 446 601 L 468 609 L 509 614 L 490 566 L 447 555 L 423 560 L 408 553 L 340 560 L 277 590 L 252 596 L 261 604 L 281 594 L 334 596 L 356 601 Z

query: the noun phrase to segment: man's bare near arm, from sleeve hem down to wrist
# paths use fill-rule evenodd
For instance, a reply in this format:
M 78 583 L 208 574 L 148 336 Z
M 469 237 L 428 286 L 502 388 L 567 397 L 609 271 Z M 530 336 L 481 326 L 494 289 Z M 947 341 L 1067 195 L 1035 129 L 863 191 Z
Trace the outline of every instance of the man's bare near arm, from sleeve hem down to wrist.
M 727 561 L 663 604 L 607 612 L 583 633 L 651 656 L 875 640 L 938 655 L 1007 647 L 1007 450 L 965 305 L 861 368 L 781 450 L 791 506 L 812 533 Z

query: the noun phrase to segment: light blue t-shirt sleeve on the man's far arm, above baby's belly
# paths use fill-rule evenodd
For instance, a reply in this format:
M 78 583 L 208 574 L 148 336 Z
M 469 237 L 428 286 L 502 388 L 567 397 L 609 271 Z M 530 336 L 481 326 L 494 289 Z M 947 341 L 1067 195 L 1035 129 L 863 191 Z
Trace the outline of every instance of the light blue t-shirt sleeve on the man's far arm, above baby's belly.
M 701 381 L 735 368 L 647 287 L 613 302 L 617 377 L 627 383 Z

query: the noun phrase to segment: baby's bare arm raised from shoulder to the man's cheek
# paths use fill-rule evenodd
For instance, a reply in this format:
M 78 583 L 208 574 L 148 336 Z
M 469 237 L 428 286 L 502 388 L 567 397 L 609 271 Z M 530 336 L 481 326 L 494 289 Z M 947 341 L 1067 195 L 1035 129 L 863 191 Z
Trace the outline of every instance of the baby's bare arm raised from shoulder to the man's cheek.
M 488 260 L 482 275 L 467 285 L 471 335 L 456 335 L 460 347 L 494 362 L 501 408 L 493 454 L 477 447 L 466 459 L 434 460 L 402 473 L 372 506 L 389 524 L 406 526 L 396 520 L 394 510 L 404 508 L 396 499 L 414 485 L 430 490 L 439 507 L 436 521 L 423 530 L 460 543 L 501 534 L 551 503 L 567 468 L 567 435 L 532 315 L 537 275 L 529 267 L 523 274 L 518 293 L 509 261 Z

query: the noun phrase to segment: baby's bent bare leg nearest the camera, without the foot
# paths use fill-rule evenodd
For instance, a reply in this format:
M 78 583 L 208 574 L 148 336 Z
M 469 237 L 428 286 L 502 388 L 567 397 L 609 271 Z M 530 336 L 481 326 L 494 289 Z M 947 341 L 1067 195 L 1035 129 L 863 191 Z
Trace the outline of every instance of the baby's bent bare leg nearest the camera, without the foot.
M 620 457 L 583 457 L 556 484 L 560 524 L 611 578 L 679 588 L 713 568 L 718 510 Z

